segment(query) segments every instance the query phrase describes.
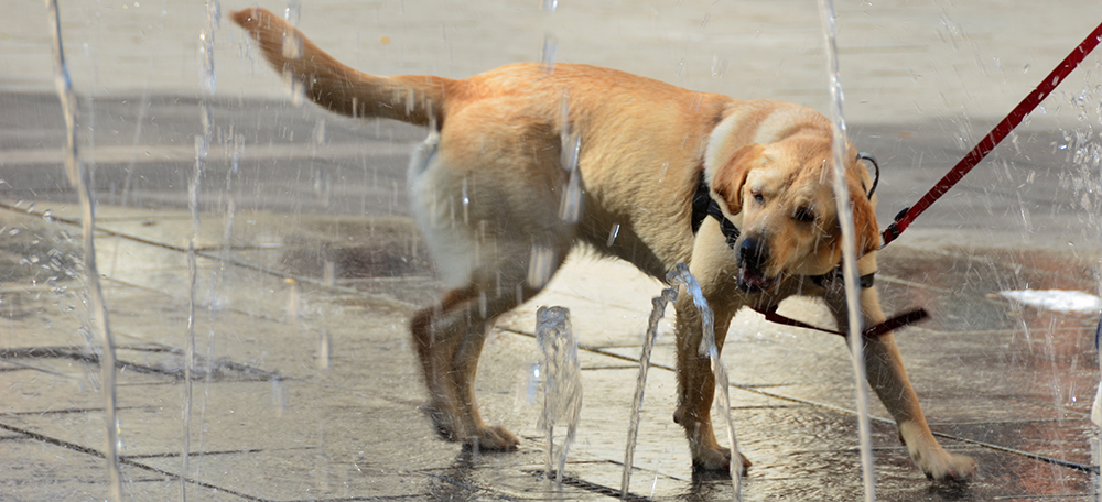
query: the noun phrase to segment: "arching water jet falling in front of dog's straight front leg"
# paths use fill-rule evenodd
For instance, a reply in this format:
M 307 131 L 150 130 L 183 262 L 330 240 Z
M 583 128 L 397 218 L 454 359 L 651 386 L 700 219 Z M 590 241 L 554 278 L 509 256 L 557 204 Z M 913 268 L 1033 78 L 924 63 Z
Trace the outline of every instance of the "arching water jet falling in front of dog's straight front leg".
M 700 310 L 701 324 L 703 325 L 703 337 L 700 340 L 698 353 L 706 357 L 712 363 L 712 373 L 715 375 L 716 411 L 723 418 L 727 428 L 727 440 L 731 443 L 731 484 L 735 489 L 735 500 L 743 500 L 742 495 L 742 462 L 738 460 L 738 441 L 735 439 L 735 423 L 731 419 L 731 388 L 727 381 L 727 370 L 720 360 L 720 348 L 715 345 L 715 326 L 713 325 L 712 308 L 704 299 L 704 292 L 700 288 L 700 283 L 689 272 L 689 265 L 678 263 L 677 266 L 666 275 L 666 281 L 671 286 L 681 286 L 692 297 L 693 305 Z

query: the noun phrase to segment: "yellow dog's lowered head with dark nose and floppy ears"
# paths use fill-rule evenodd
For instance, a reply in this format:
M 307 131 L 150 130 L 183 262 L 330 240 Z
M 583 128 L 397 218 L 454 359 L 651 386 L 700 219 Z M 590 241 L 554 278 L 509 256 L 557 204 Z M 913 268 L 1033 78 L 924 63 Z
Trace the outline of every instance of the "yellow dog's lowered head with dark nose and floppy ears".
M 857 253 L 879 245 L 868 171 L 849 149 L 846 197 Z M 734 253 L 738 286 L 766 291 L 786 276 L 822 275 L 842 260 L 830 138 L 795 134 L 736 150 L 712 173 L 712 197 L 742 230 Z

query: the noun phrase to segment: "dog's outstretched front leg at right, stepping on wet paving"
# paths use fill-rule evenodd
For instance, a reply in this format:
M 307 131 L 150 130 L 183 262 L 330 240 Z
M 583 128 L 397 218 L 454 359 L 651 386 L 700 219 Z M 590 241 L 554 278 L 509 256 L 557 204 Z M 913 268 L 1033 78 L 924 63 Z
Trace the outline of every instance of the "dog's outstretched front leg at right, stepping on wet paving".
M 838 319 L 839 328 L 845 332 L 846 309 L 844 294 L 830 295 L 828 303 Z M 876 288 L 866 287 L 861 292 L 863 321 L 865 326 L 883 323 L 879 296 Z M 895 336 L 886 334 L 877 338 L 864 339 L 865 374 L 869 386 L 880 402 L 892 413 L 899 427 L 899 439 L 907 446 L 911 460 L 927 478 L 934 480 L 966 480 L 975 473 L 976 463 L 970 457 L 950 455 L 930 433 L 922 415 L 918 396 L 910 386 L 903 357 L 896 347 Z

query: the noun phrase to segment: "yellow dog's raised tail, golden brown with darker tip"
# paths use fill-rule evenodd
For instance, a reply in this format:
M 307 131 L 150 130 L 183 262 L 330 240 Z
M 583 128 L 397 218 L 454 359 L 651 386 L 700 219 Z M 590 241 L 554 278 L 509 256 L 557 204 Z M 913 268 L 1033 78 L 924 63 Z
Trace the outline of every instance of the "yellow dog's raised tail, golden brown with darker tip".
M 337 113 L 428 126 L 440 117 L 445 96 L 456 86 L 456 80 L 428 75 L 377 77 L 353 69 L 261 8 L 231 15 L 277 72 L 302 85 L 307 98 Z

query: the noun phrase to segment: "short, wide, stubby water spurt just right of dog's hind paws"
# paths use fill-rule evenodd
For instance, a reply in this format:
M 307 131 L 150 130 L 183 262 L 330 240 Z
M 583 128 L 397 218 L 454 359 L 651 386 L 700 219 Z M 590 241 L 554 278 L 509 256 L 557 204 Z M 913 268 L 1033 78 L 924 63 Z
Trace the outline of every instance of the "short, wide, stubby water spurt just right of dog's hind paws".
M 577 361 L 577 340 L 570 328 L 570 310 L 563 307 L 540 307 L 536 312 L 536 339 L 543 352 L 540 374 L 543 376 L 543 415 L 540 430 L 547 433 L 548 455 L 544 473 L 551 476 L 554 459 L 554 426 L 566 422 L 566 437 L 559 448 L 555 481 L 562 484 L 566 452 L 574 443 L 582 414 L 582 374 Z

